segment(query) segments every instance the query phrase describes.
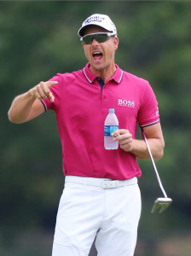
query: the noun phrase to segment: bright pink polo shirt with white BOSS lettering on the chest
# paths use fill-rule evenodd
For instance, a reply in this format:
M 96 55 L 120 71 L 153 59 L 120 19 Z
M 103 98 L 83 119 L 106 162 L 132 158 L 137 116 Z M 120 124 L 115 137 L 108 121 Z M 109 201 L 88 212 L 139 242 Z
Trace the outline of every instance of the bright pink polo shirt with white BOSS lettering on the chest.
M 89 67 L 90 63 L 77 72 L 57 73 L 50 79 L 58 82 L 50 88 L 55 101 L 42 101 L 46 110 L 55 110 L 64 174 L 119 180 L 140 177 L 134 154 L 104 148 L 104 121 L 109 108 L 114 108 L 119 129 L 128 129 L 135 138 L 136 122 L 142 127 L 159 122 L 153 90 L 148 81 L 117 65 L 113 78 L 101 90 L 101 78 L 90 73 Z

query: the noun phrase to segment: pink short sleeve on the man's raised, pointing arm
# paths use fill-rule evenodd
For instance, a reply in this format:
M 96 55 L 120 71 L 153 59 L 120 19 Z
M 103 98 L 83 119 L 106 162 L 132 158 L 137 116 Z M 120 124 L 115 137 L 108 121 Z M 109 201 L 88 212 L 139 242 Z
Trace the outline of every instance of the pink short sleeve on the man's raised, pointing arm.
M 62 84 L 61 73 L 57 73 L 52 79 L 49 79 L 49 81 L 57 81 L 58 82 L 58 84 L 55 84 L 50 87 L 50 91 L 52 92 L 53 96 L 55 96 L 55 101 L 56 101 L 56 99 L 58 99 L 58 97 L 59 97 L 59 88 L 61 87 L 61 84 Z M 55 101 L 50 102 L 49 98 L 41 100 L 45 111 L 48 111 L 49 109 L 55 110 Z

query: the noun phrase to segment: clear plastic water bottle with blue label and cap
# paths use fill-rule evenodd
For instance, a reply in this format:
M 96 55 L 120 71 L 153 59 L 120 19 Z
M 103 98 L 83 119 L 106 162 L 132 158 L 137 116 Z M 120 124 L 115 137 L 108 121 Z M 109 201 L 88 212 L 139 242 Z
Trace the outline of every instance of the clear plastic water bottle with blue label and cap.
M 119 129 L 119 120 L 115 115 L 114 108 L 109 108 L 109 113 L 107 114 L 107 118 L 105 119 L 104 124 L 104 147 L 106 149 L 118 149 L 119 142 L 113 141 L 113 137 L 111 134 L 113 131 Z

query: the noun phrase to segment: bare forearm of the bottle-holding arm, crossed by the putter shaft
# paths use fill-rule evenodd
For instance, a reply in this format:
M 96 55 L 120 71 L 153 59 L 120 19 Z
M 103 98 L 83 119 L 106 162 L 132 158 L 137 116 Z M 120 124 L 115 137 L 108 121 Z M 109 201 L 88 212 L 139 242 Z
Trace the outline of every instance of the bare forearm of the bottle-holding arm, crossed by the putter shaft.
M 159 160 L 163 156 L 165 143 L 159 138 L 148 138 L 148 145 L 153 155 L 154 160 Z M 136 157 L 142 160 L 149 160 L 148 148 L 143 140 L 132 140 L 131 154 L 135 154 Z

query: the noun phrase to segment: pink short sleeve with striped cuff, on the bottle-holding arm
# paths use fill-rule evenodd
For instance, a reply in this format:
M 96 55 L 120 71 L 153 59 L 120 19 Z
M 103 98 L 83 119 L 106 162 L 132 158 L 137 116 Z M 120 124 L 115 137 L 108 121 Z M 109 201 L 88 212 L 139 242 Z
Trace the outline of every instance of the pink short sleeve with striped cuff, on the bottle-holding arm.
M 142 105 L 138 113 L 138 123 L 141 127 L 159 123 L 159 108 L 156 96 L 150 84 L 145 84 Z

